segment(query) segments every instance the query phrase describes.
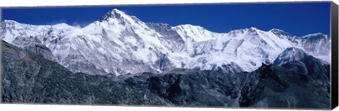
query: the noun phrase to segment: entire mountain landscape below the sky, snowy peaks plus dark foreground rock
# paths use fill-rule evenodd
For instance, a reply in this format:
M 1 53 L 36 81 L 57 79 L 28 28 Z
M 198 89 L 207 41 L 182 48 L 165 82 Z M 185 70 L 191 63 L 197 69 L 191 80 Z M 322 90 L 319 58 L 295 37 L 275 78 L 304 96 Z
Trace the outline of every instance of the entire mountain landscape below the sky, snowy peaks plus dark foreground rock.
M 329 109 L 331 37 L 213 33 L 114 9 L 79 28 L 1 23 L 1 102 Z

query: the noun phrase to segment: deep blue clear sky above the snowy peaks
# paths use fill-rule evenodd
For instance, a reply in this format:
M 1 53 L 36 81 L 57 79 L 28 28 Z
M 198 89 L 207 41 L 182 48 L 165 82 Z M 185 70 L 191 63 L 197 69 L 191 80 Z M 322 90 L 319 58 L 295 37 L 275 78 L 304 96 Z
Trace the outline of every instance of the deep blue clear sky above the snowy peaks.
M 181 4 L 3 8 L 2 19 L 35 25 L 87 25 L 117 8 L 144 22 L 201 25 L 218 33 L 255 27 L 279 28 L 293 35 L 330 33 L 331 4 L 323 2 L 257 4 Z

